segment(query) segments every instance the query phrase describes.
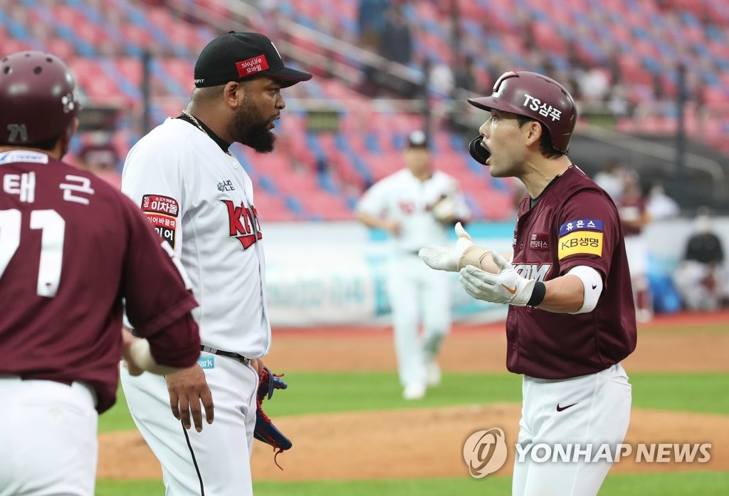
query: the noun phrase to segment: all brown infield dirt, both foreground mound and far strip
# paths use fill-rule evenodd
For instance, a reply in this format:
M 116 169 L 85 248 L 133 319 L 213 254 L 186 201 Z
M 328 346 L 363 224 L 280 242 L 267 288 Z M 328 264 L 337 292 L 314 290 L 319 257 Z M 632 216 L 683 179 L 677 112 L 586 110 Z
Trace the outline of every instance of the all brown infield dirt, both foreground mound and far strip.
M 729 321 L 729 314 L 714 318 Z M 666 321 L 668 322 L 668 321 Z M 661 331 L 666 322 L 639 329 L 639 346 L 625 360 L 631 371 L 729 371 L 722 356 L 729 333 L 687 335 Z M 679 318 L 670 322 L 680 322 Z M 689 322 L 693 322 L 690 320 Z M 503 325 L 459 327 L 445 342 L 445 371 L 504 371 Z M 394 370 L 391 332 L 276 330 L 274 351 L 266 359 L 273 370 Z M 476 430 L 502 427 L 507 442 L 518 430 L 520 406 L 458 406 L 402 411 L 290 416 L 277 423 L 295 440 L 295 449 L 273 464 L 268 446 L 254 443 L 252 468 L 257 480 L 300 481 L 350 478 L 421 478 L 467 476 L 461 458 L 464 440 Z M 687 426 L 691 426 L 687 430 Z M 705 464 L 636 463 L 625 459 L 615 472 L 659 470 L 729 470 L 729 416 L 634 409 L 625 443 L 713 443 Z M 721 449 L 724 448 L 725 451 Z M 510 450 L 510 457 L 513 457 Z M 312 463 L 311 460 L 318 460 Z M 501 474 L 510 473 L 512 459 Z M 159 478 L 159 464 L 141 436 L 99 436 L 100 478 Z

